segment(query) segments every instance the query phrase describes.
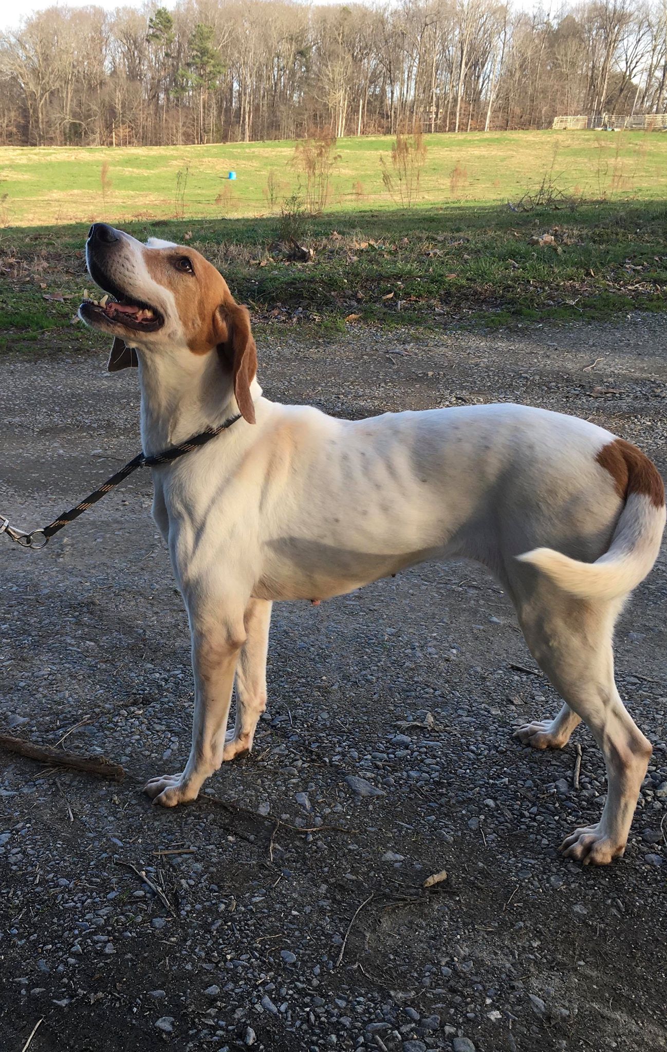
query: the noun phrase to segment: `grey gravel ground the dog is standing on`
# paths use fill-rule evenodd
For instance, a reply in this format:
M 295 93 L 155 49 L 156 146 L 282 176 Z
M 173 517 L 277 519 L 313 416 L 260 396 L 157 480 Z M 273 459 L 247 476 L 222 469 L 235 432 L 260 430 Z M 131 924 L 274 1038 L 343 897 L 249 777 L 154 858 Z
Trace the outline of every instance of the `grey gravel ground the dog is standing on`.
M 357 417 L 522 401 L 602 423 L 663 471 L 666 352 L 667 320 L 639 316 L 260 341 L 270 398 Z M 0 510 L 36 526 L 136 452 L 136 376 L 98 352 L 2 370 Z M 254 755 L 210 797 L 153 808 L 141 785 L 186 756 L 193 690 L 149 504 L 135 476 L 41 553 L 0 539 L 0 732 L 72 730 L 64 748 L 128 775 L 1 754 L 0 1046 L 20 1052 L 41 1019 L 31 1052 L 667 1048 L 664 559 L 618 633 L 653 760 L 626 856 L 582 870 L 555 849 L 598 820 L 602 757 L 585 728 L 549 754 L 512 741 L 559 702 L 501 589 L 463 564 L 277 605 Z

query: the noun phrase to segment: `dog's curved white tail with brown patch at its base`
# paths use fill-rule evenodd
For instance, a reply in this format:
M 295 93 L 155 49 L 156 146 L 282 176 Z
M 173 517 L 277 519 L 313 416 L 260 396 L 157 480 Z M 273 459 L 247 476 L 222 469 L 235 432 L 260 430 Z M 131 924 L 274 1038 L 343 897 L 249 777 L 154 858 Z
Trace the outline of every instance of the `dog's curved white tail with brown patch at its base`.
M 658 468 L 640 449 L 617 439 L 612 470 L 625 507 L 609 550 L 594 563 L 582 563 L 552 548 L 534 548 L 518 558 L 546 573 L 570 595 L 613 600 L 627 595 L 644 580 L 658 558 L 665 528 L 665 486 Z M 625 464 L 625 469 L 621 465 Z

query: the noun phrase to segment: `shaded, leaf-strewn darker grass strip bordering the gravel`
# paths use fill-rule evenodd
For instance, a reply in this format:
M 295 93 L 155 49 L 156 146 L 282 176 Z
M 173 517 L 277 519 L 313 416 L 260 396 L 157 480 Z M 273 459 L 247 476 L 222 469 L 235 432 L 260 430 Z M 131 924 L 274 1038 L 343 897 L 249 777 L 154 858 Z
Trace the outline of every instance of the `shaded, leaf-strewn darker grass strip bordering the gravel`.
M 315 260 L 291 262 L 279 220 L 124 224 L 187 241 L 219 267 L 254 322 L 504 326 L 667 306 L 667 204 L 605 202 L 346 211 L 310 221 Z M 552 244 L 539 239 L 551 231 Z M 0 234 L 0 346 L 100 346 L 73 324 L 86 277 L 84 224 Z M 53 299 L 52 297 L 62 297 Z

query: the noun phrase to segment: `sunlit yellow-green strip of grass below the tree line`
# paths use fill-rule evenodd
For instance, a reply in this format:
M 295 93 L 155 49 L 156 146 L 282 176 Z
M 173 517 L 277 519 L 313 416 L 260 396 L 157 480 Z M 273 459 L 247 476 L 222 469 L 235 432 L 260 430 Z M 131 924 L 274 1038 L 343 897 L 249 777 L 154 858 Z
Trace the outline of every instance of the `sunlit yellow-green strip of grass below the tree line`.
M 667 196 L 667 135 L 624 132 L 509 132 L 425 137 L 428 153 L 419 207 L 458 207 L 516 200 L 552 169 L 568 194 L 589 199 Z M 340 160 L 329 208 L 390 208 L 380 157 L 391 140 L 373 136 L 337 143 Z M 260 217 L 270 210 L 264 190 L 269 170 L 280 200 L 299 173 L 294 142 L 168 147 L 0 148 L 0 224 L 42 225 L 174 218 L 177 176 L 188 169 L 185 218 Z M 110 186 L 102 191 L 102 165 Z M 460 178 L 451 183 L 458 166 Z M 229 169 L 236 181 L 226 179 Z M 220 199 L 222 195 L 222 199 Z

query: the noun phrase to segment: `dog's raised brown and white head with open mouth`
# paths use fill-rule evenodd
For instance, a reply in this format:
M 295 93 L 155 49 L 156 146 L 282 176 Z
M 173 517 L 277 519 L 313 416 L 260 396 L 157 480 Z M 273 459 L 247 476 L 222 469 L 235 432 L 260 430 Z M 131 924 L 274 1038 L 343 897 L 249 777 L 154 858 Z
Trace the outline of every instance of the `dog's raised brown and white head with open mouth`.
M 137 350 L 215 353 L 230 373 L 239 409 L 255 423 L 257 349 L 248 310 L 211 263 L 194 248 L 156 238 L 144 245 L 106 223 L 90 227 L 86 263 L 105 295 L 85 300 L 79 317 L 114 337 L 109 371 L 137 365 Z

